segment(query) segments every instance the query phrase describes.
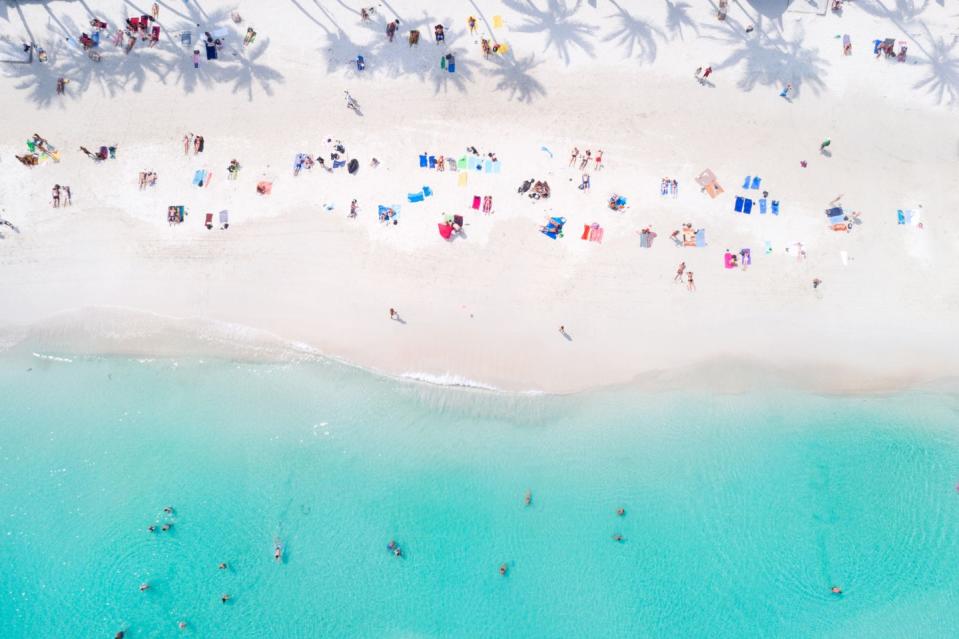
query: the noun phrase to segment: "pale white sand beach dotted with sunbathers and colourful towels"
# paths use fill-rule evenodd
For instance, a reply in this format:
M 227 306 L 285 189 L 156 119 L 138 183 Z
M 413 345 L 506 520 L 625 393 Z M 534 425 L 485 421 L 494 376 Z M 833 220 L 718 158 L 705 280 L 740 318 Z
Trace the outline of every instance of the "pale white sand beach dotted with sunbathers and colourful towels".
M 639 379 L 736 388 L 756 371 L 824 391 L 959 375 L 950 0 L 855 0 L 841 14 L 741 0 L 724 21 L 718 3 L 678 0 L 166 0 L 157 46 L 138 40 L 125 54 L 110 38 L 150 4 L 0 4 L 0 217 L 16 227 L 0 227 L 3 348 L 319 353 L 546 392 Z M 77 42 L 93 16 L 109 25 L 99 62 Z M 195 69 L 194 46 L 221 30 L 218 59 L 201 55 Z M 482 38 L 507 52 L 486 59 Z M 905 61 L 873 55 L 885 38 L 896 52 L 906 44 Z M 27 62 L 23 42 L 47 61 Z M 441 68 L 447 53 L 454 73 Z M 712 67 L 707 83 L 697 67 Z M 17 161 L 34 133 L 59 162 Z M 202 153 L 184 154 L 189 133 L 204 137 Z M 294 176 L 298 153 L 331 162 L 328 139 L 358 160 L 356 174 Z M 111 145 L 116 159 L 100 162 L 79 150 Z M 467 168 L 460 186 L 464 171 L 419 166 L 421 153 L 468 147 L 495 153 L 499 172 Z M 589 190 L 568 166 L 574 147 L 603 152 Z M 724 190 L 715 198 L 695 181 L 705 169 Z M 191 184 L 197 170 L 212 172 L 208 185 Z M 139 189 L 141 171 L 156 185 Z M 743 188 L 747 176 L 758 189 Z M 675 197 L 661 195 L 666 177 Z M 551 196 L 519 194 L 530 178 Z M 55 184 L 71 187 L 70 207 L 51 205 Z M 423 186 L 433 195 L 409 202 Z M 760 213 L 763 191 L 778 215 Z M 608 206 L 614 194 L 624 210 Z M 492 211 L 474 210 L 474 196 L 491 196 Z M 734 211 L 737 196 L 754 201 L 749 215 Z M 168 224 L 171 205 L 186 208 L 183 223 Z M 378 205 L 399 205 L 398 223 L 379 222 Z M 849 232 L 829 225 L 837 205 Z M 899 224 L 900 210 L 914 217 Z M 452 241 L 438 233 L 444 214 L 465 219 Z M 566 218 L 563 237 L 540 232 L 550 216 Z M 684 223 L 705 229 L 705 247 L 674 245 Z M 581 239 L 592 224 L 602 242 Z M 647 227 L 656 238 L 644 248 Z M 727 250 L 746 248 L 747 269 L 725 267 Z M 680 262 L 695 291 L 674 282 Z

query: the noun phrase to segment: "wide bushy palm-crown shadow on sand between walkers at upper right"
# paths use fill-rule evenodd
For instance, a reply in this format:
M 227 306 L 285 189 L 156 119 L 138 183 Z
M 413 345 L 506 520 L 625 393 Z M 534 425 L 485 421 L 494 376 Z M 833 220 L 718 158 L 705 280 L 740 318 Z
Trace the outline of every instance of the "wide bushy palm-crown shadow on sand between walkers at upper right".
M 723 26 L 708 26 L 719 32 L 718 39 L 737 48 L 724 60 L 713 65 L 716 70 L 732 69 L 743 66 L 742 76 L 737 86 L 743 91 L 752 91 L 757 85 L 780 86 L 792 83 L 794 96 L 798 96 L 803 87 L 815 94 L 825 88 L 822 76 L 829 63 L 819 55 L 819 49 L 803 46 L 804 32 L 801 25 L 793 40 L 786 40 L 782 32 L 760 32 L 749 37 L 745 30 L 730 18 Z

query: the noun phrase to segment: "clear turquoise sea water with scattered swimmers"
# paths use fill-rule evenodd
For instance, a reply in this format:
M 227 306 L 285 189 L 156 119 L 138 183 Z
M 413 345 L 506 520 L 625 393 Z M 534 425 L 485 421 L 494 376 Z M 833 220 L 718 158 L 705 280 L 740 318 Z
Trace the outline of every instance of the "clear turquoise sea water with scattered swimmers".
M 0 637 L 959 628 L 955 395 L 524 397 L 32 357 L 0 388 Z

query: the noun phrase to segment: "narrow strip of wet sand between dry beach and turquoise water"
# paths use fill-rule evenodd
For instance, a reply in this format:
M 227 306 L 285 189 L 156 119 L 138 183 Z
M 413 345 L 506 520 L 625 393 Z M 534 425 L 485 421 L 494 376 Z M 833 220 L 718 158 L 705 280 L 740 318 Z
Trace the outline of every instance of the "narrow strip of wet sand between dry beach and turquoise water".
M 132 327 L 132 328 L 131 328 Z M 959 376 L 916 371 L 867 371 L 838 362 L 791 366 L 749 357 L 711 356 L 674 368 L 643 370 L 628 380 L 575 389 L 494 385 L 456 371 L 383 370 L 328 355 L 309 344 L 235 323 L 174 318 L 132 309 L 89 308 L 63 312 L 32 326 L 0 326 L 0 358 L 33 356 L 70 363 L 75 358 L 133 360 L 213 360 L 251 365 L 332 364 L 395 383 L 491 392 L 505 396 L 577 396 L 594 392 L 641 393 L 706 391 L 737 395 L 786 390 L 822 395 L 868 396 L 908 391 L 959 392 Z

